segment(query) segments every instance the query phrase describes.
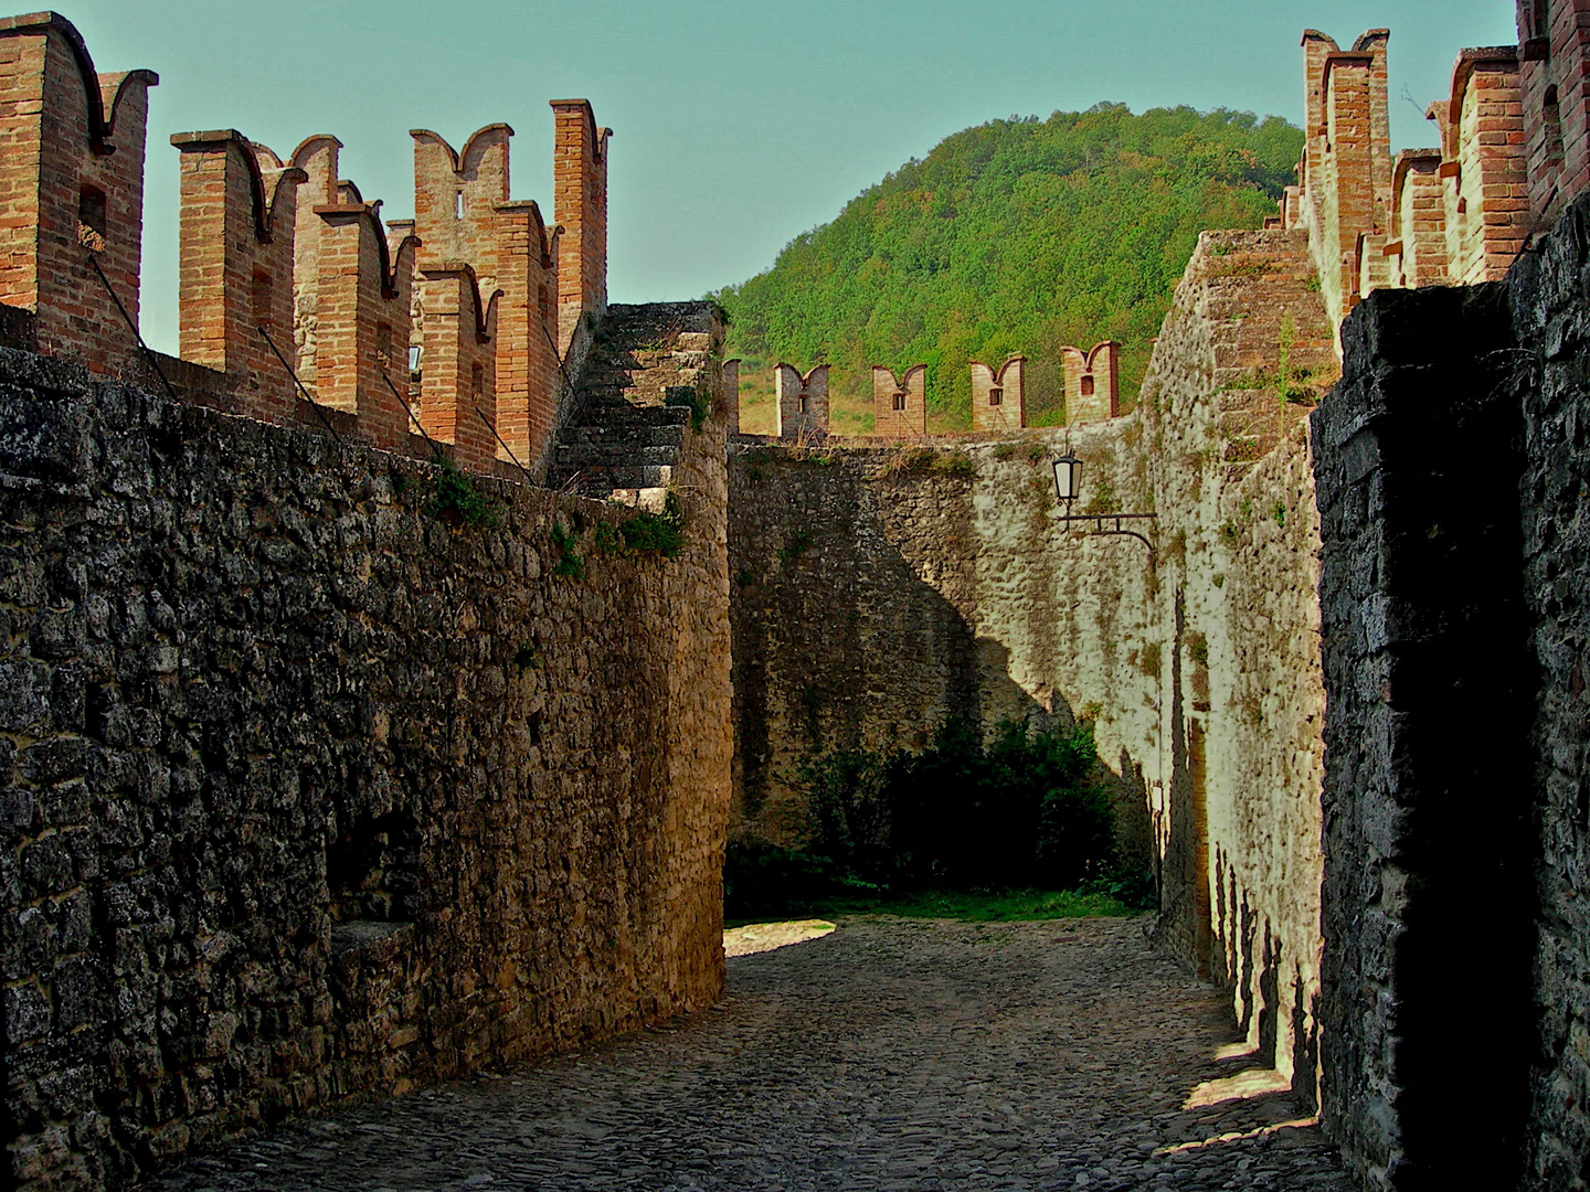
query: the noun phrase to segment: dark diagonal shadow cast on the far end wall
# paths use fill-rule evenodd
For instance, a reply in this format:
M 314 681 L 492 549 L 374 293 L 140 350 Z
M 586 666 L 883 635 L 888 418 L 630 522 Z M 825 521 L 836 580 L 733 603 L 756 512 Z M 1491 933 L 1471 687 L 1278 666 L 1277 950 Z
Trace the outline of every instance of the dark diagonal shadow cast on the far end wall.
M 795 771 L 820 753 L 921 750 L 952 717 L 984 736 L 1003 720 L 1078 723 L 1059 693 L 1034 696 L 1011 679 L 1010 648 L 979 637 L 957 606 L 971 604 L 975 551 L 944 550 L 924 577 L 849 466 L 735 467 L 755 494 L 730 502 L 736 838 L 800 844 L 809 823 Z M 937 524 L 970 544 L 970 501 L 941 505 Z M 1116 841 L 1148 868 L 1142 766 L 1126 750 L 1118 764 L 1102 768 Z

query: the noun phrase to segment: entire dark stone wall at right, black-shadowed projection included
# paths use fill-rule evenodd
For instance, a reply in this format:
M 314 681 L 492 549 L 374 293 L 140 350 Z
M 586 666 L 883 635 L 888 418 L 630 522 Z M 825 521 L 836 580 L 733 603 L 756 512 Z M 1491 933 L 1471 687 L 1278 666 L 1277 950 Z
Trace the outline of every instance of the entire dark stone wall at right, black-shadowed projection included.
M 1503 283 L 1375 294 L 1315 416 L 1326 1120 L 1374 1187 L 1590 1178 L 1587 245 L 1582 197 Z

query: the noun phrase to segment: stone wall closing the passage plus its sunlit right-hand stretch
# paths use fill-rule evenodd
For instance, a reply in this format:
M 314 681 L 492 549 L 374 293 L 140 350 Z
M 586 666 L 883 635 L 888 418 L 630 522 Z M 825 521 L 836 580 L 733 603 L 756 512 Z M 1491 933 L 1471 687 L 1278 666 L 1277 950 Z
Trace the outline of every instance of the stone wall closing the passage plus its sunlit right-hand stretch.
M 1312 1092 L 1323 695 L 1302 418 L 1331 345 L 1302 234 L 1208 234 L 1129 416 L 736 448 L 735 830 L 798 839 L 790 779 L 812 752 L 914 747 L 949 714 L 1092 720 L 1127 842 L 1148 830 L 1161 858 L 1161 938 Z M 1056 521 L 1067 445 L 1078 512 L 1158 512 L 1153 561 Z

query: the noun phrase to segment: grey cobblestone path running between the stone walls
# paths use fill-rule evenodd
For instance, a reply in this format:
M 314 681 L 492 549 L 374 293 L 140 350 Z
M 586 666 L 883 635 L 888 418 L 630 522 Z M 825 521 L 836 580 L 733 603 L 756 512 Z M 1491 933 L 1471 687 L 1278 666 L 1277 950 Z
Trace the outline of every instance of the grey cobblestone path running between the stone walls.
M 852 919 L 728 962 L 714 1009 L 302 1122 L 162 1192 L 1329 1189 L 1285 1093 L 1183 1111 L 1251 1060 L 1130 920 Z M 1245 1135 L 1218 1140 L 1224 1135 Z M 1180 1149 L 1175 1149 L 1180 1147 Z

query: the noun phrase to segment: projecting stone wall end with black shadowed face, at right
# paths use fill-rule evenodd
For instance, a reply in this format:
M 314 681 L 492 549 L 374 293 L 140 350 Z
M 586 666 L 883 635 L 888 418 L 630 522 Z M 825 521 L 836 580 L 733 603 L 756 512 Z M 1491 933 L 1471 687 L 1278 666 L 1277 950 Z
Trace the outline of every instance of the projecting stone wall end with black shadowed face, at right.
M 1380 291 L 1344 346 L 1313 416 L 1324 1120 L 1369 1187 L 1510 1189 L 1534 942 L 1507 296 Z

